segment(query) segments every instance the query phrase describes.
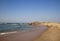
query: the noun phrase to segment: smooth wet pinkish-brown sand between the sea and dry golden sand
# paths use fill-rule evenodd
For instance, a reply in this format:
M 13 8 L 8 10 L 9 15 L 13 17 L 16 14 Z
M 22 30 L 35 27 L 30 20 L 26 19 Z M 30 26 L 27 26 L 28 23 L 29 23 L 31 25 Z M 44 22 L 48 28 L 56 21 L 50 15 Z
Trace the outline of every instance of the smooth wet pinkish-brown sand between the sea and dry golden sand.
M 40 36 L 48 27 L 34 28 L 25 32 L 17 32 L 8 35 L 0 35 L 0 41 L 33 41 Z

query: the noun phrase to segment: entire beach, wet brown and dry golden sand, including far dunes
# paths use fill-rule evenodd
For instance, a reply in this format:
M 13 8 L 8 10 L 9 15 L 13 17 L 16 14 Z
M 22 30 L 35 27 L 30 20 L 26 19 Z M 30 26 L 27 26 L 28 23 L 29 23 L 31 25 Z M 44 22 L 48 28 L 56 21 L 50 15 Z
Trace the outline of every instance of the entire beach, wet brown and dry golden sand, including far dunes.
M 0 41 L 60 41 L 60 24 L 30 25 L 30 30 L 0 34 Z M 28 26 L 29 27 L 29 26 Z

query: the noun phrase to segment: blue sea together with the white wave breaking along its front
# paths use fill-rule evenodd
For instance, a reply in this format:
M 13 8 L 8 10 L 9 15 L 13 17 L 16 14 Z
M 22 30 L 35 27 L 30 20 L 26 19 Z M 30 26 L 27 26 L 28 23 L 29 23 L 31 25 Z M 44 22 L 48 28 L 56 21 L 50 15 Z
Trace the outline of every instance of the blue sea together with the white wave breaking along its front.
M 31 30 L 34 27 L 28 25 L 27 23 L 21 23 L 19 24 L 0 24 L 0 35 L 3 34 L 8 34 L 8 33 L 15 33 L 17 31 L 27 31 L 27 30 Z

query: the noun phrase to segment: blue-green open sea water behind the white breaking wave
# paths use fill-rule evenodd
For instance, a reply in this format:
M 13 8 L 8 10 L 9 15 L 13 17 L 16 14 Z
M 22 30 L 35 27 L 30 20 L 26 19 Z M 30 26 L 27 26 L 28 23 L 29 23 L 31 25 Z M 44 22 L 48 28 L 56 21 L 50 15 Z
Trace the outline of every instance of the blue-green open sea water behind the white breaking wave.
M 3 32 L 12 32 L 12 31 L 24 31 L 31 30 L 33 27 L 28 24 L 25 25 L 12 25 L 12 24 L 2 24 L 0 25 L 0 33 Z

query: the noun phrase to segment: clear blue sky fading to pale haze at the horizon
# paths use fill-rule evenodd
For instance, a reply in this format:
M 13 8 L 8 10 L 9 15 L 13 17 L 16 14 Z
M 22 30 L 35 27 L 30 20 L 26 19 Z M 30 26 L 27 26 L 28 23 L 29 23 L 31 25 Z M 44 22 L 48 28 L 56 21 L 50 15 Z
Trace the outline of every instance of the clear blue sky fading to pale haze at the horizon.
M 60 22 L 60 0 L 0 0 L 0 22 Z

